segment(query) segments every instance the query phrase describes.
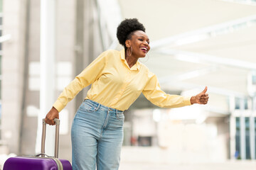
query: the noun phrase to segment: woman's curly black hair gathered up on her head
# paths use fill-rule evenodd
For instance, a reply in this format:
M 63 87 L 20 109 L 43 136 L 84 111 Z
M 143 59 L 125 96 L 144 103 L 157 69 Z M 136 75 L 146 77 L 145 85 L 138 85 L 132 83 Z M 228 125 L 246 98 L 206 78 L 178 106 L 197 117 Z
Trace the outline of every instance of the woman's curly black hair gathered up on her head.
M 132 33 L 135 30 L 142 30 L 145 32 L 145 28 L 142 23 L 139 23 L 137 18 L 124 19 L 117 27 L 117 39 L 121 45 L 125 46 L 125 41 L 132 38 Z

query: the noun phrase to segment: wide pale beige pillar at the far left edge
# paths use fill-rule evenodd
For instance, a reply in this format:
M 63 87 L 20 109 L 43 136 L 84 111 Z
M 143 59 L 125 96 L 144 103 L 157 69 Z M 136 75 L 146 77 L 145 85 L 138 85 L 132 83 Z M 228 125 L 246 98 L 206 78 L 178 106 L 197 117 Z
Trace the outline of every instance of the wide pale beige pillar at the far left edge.
M 16 154 L 20 147 L 26 10 L 26 0 L 3 1 L 3 35 L 11 34 L 11 40 L 3 42 L 1 139 Z

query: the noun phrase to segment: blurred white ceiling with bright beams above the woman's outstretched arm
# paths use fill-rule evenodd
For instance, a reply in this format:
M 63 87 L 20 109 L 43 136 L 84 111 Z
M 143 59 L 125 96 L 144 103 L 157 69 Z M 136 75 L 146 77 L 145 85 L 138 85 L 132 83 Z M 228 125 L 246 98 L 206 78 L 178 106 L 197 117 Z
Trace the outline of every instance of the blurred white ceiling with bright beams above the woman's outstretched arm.
M 248 96 L 247 77 L 256 70 L 256 1 L 243 2 L 118 1 L 122 18 L 146 28 L 151 51 L 142 62 L 162 89 L 195 94 L 208 86 L 209 107 L 220 110 L 228 97 Z

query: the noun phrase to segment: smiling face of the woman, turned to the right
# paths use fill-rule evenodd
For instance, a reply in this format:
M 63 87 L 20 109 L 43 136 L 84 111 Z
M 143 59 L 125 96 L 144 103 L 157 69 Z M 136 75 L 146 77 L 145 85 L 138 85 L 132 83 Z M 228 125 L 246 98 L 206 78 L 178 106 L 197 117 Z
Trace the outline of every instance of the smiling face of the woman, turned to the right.
M 132 55 L 134 57 L 145 57 L 150 50 L 149 37 L 142 30 L 134 31 L 131 40 L 127 40 L 125 45 L 132 47 Z

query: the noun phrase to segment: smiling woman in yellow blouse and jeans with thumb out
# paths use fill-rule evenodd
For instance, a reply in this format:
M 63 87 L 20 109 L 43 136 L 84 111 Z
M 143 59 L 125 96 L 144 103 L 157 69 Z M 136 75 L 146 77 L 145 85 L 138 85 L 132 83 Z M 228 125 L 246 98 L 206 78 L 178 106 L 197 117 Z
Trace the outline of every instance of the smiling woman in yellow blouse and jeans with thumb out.
M 123 141 L 123 111 L 143 93 L 156 106 L 174 108 L 208 102 L 207 87 L 192 97 L 165 94 L 156 76 L 138 62 L 150 50 L 149 37 L 137 18 L 117 28 L 124 50 L 107 50 L 63 90 L 46 115 L 53 119 L 79 91 L 92 84 L 75 115 L 71 129 L 73 169 L 118 169 Z

